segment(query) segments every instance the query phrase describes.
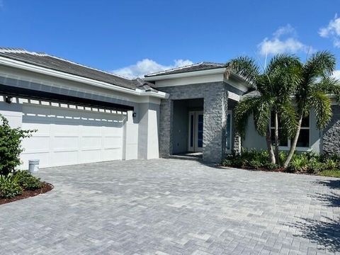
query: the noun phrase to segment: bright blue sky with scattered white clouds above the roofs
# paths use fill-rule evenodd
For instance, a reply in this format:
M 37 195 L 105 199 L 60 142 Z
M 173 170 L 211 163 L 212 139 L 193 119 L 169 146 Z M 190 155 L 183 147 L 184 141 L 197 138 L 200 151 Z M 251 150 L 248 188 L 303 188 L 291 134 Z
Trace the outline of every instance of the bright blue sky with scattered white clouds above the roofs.
M 330 50 L 340 69 L 339 0 L 0 0 L 0 45 L 126 77 L 192 62 Z M 337 73 L 340 78 L 340 72 Z

